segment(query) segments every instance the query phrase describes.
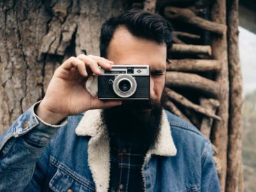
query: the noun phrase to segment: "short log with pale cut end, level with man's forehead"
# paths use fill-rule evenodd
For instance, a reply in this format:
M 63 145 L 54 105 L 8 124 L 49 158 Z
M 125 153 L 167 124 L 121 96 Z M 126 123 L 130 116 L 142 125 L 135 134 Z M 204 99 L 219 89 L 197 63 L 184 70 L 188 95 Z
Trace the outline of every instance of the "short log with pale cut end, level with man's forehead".
M 206 54 L 211 55 L 212 49 L 209 45 L 184 45 L 173 44 L 169 50 L 171 53 L 183 53 L 183 54 Z

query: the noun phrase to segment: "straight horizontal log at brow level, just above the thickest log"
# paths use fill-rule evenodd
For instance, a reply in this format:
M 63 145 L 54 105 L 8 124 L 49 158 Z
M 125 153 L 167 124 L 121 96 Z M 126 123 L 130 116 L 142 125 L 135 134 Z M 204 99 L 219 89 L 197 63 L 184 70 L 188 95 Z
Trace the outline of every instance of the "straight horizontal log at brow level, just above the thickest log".
M 181 72 L 210 72 L 220 69 L 220 63 L 217 60 L 170 60 L 170 64 L 166 67 L 166 70 Z

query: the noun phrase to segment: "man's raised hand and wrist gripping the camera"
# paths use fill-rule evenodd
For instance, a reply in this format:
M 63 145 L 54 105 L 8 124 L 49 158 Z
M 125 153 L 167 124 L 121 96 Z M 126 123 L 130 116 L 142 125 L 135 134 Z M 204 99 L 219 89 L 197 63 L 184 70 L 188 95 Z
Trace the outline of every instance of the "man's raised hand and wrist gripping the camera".
M 104 102 L 86 90 L 88 77 L 92 73 L 100 75 L 98 65 L 109 70 L 114 63 L 99 56 L 84 54 L 68 58 L 54 72 L 45 97 L 37 108 L 37 115 L 49 124 L 56 124 L 68 115 L 122 104 L 120 101 Z

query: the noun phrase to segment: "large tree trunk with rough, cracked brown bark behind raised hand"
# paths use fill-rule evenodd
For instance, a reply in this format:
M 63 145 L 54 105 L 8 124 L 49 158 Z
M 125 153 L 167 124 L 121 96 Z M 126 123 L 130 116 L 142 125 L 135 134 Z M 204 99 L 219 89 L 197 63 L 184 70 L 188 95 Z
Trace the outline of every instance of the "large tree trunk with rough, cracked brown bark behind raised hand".
M 63 60 L 99 55 L 102 23 L 128 6 L 118 0 L 47 2 L 0 2 L 0 134 L 44 97 Z

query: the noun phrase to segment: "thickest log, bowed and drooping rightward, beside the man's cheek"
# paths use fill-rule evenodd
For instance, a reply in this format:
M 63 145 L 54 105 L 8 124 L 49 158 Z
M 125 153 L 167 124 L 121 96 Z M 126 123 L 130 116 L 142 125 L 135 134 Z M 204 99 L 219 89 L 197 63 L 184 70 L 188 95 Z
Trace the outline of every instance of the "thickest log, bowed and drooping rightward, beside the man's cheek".
M 168 87 L 193 88 L 214 98 L 220 92 L 220 86 L 215 81 L 184 72 L 166 72 L 166 85 Z

